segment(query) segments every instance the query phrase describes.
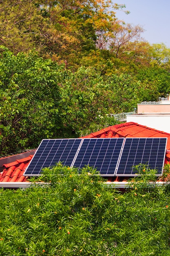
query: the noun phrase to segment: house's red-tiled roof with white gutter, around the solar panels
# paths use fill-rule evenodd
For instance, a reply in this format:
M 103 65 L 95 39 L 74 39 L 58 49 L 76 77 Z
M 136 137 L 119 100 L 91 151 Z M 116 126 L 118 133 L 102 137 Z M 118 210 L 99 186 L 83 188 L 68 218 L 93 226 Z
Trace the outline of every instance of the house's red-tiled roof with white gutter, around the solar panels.
M 117 124 L 109 126 L 97 132 L 91 133 L 82 138 L 122 138 L 122 137 L 166 137 L 167 150 L 165 164 L 170 164 L 170 133 L 159 131 L 134 122 Z M 0 159 L 0 187 L 19 188 L 31 185 L 29 177 L 25 177 L 24 171 L 31 161 L 35 150 Z M 108 183 L 115 184 L 117 187 L 123 187 L 128 177 L 107 177 Z

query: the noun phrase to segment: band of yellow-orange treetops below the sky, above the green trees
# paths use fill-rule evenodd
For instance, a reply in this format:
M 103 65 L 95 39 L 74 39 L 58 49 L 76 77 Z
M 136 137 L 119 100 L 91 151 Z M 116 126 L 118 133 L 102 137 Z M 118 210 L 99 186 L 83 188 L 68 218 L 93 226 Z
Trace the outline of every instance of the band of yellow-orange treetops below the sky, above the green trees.
M 117 19 L 119 9 L 130 11 L 112 0 L 3 0 L 0 45 L 14 54 L 35 48 L 75 68 L 108 63 L 128 71 L 150 63 L 169 68 L 170 49 L 146 42 L 142 27 Z

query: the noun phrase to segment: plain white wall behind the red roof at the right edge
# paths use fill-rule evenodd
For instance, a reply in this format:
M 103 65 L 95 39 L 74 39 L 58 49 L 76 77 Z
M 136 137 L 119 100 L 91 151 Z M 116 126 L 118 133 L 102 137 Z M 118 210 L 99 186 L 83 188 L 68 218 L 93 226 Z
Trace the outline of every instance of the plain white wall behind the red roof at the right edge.
M 170 133 L 170 115 L 129 115 L 126 121 Z

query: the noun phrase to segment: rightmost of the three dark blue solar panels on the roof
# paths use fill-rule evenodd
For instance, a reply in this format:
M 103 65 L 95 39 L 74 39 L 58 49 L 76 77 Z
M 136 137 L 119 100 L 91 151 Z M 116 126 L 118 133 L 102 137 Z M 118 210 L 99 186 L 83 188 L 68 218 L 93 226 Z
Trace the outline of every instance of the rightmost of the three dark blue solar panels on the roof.
M 116 175 L 135 175 L 133 166 L 146 164 L 161 175 L 165 160 L 167 138 L 126 138 Z

